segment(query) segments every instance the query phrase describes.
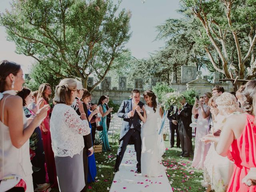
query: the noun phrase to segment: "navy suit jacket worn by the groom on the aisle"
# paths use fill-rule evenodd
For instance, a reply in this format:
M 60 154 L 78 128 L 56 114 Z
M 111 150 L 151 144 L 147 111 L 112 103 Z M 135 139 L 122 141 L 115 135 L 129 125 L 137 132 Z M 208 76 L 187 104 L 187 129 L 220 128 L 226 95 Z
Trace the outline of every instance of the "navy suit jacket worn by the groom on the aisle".
M 144 105 L 144 103 L 142 103 L 141 101 L 138 103 L 138 106 L 140 106 L 140 108 L 142 108 L 143 105 Z M 134 112 L 133 117 L 128 118 L 128 113 L 131 110 L 132 110 L 132 99 L 123 100 L 123 102 L 117 112 L 117 116 L 120 118 L 123 118 L 123 123 L 122 123 L 122 127 L 120 130 L 120 138 L 119 138 L 120 141 L 124 138 L 124 136 L 130 129 L 132 124 L 134 126 L 134 129 L 138 130 L 139 132 L 141 130 L 141 124 L 140 124 L 141 120 L 136 111 Z

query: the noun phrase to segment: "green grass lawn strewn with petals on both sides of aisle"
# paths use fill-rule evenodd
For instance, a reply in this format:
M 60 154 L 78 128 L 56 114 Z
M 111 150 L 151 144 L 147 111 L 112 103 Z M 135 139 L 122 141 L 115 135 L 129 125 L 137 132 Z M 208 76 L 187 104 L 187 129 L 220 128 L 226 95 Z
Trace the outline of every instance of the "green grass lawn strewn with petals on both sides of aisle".
M 111 143 L 112 144 L 112 143 Z M 166 147 L 170 144 L 165 141 Z M 97 177 L 96 182 L 88 184 L 88 192 L 107 192 L 110 189 L 114 178 L 114 164 L 118 144 L 112 145 L 111 152 L 96 153 Z M 163 164 L 167 167 L 167 176 L 174 192 L 204 192 L 201 186 L 202 170 L 195 170 L 190 167 L 192 158 L 182 158 L 180 148 L 171 148 L 163 156 Z M 58 192 L 53 189 L 52 192 Z

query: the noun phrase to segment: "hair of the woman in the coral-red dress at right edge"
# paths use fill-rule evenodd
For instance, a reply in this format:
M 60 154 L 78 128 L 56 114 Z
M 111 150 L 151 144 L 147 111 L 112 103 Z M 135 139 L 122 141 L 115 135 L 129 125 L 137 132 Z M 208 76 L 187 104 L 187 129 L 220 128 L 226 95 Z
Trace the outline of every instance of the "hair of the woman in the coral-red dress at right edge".
M 253 99 L 256 95 L 256 80 L 249 81 L 245 84 L 244 90 L 242 91 L 242 99 L 244 103 L 242 108 L 250 115 L 253 114 Z

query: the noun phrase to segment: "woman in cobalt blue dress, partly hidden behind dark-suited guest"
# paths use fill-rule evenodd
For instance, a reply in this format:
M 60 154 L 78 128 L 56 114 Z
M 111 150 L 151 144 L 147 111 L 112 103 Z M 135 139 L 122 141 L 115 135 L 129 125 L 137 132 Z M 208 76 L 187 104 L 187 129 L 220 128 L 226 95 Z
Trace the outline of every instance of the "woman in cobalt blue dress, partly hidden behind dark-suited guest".
M 91 128 L 91 134 L 92 134 L 92 126 L 91 122 L 99 122 L 100 118 L 96 118 L 92 120 L 92 115 L 90 115 L 92 112 L 90 111 L 90 101 L 92 99 L 92 94 L 88 92 L 88 90 L 84 91 L 84 94 L 82 96 L 82 102 L 84 102 L 87 106 L 88 109 L 88 121 L 89 121 L 89 126 Z M 93 144 L 92 144 L 93 146 Z M 88 174 L 87 174 L 87 183 L 94 182 L 95 177 L 97 174 L 97 169 L 96 169 L 96 162 L 95 162 L 95 156 L 92 154 L 91 156 L 88 157 Z

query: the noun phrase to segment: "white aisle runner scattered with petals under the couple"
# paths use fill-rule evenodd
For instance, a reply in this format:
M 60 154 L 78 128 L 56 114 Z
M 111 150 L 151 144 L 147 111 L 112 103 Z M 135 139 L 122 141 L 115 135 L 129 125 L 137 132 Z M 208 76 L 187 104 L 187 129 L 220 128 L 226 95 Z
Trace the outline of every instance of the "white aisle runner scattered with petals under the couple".
M 172 192 L 165 171 L 159 177 L 145 177 L 135 173 L 136 164 L 134 146 L 128 145 L 110 192 Z

